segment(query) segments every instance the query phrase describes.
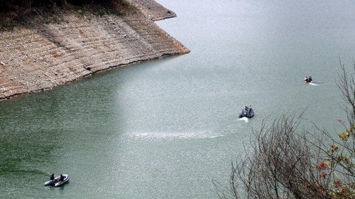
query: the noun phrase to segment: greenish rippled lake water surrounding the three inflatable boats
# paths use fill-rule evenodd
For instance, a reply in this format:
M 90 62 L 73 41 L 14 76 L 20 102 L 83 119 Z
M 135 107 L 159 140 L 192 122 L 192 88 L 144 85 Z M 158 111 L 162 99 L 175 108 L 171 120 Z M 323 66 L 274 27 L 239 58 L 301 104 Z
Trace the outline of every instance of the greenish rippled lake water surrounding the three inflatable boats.
M 159 2 L 178 17 L 157 23 L 191 53 L 0 102 L 0 198 L 216 198 L 268 115 L 309 104 L 305 118 L 340 128 L 354 1 Z M 245 105 L 255 117 L 239 120 Z M 52 173 L 71 180 L 43 186 Z

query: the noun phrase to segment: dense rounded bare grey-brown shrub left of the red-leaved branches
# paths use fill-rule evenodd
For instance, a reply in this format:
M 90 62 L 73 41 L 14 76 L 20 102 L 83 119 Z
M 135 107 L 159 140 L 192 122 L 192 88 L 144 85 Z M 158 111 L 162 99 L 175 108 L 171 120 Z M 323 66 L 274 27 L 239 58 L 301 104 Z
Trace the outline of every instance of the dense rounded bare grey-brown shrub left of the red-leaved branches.
M 219 198 L 330 198 L 319 191 L 323 185 L 310 153 L 315 147 L 297 134 L 299 120 L 281 115 L 270 127 L 264 120 L 253 131 L 251 141 L 256 142 L 245 150 L 250 154 L 232 165 L 230 188 L 222 190 L 215 183 Z

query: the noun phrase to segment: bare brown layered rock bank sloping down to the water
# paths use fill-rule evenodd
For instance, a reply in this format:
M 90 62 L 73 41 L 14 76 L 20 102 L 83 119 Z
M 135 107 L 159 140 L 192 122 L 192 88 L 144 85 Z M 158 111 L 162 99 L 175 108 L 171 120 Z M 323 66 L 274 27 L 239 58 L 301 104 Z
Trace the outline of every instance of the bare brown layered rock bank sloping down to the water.
M 189 50 L 154 20 L 175 17 L 153 0 L 127 0 L 127 15 L 77 15 L 0 33 L 0 100 L 89 76 L 102 70 L 180 55 Z

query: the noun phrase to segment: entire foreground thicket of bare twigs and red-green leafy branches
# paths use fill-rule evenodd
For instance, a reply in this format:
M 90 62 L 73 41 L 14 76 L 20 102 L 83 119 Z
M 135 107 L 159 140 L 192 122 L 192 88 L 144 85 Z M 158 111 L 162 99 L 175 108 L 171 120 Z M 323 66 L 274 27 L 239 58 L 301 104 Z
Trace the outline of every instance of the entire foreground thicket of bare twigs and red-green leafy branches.
M 317 126 L 316 133 L 304 131 L 303 113 L 280 115 L 271 124 L 263 120 L 245 144 L 247 157 L 232 164 L 229 187 L 214 182 L 219 198 L 355 198 L 355 80 L 340 65 L 348 122 L 338 121 L 345 131 L 338 137 Z

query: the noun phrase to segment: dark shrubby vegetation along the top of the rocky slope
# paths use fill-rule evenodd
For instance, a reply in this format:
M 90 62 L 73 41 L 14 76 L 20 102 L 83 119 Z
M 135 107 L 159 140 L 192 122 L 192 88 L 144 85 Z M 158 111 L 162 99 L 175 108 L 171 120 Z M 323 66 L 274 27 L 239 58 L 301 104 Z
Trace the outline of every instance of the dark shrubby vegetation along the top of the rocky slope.
M 0 0 L 0 31 L 38 22 L 62 23 L 66 12 L 91 19 L 92 15 L 136 13 L 125 0 Z

